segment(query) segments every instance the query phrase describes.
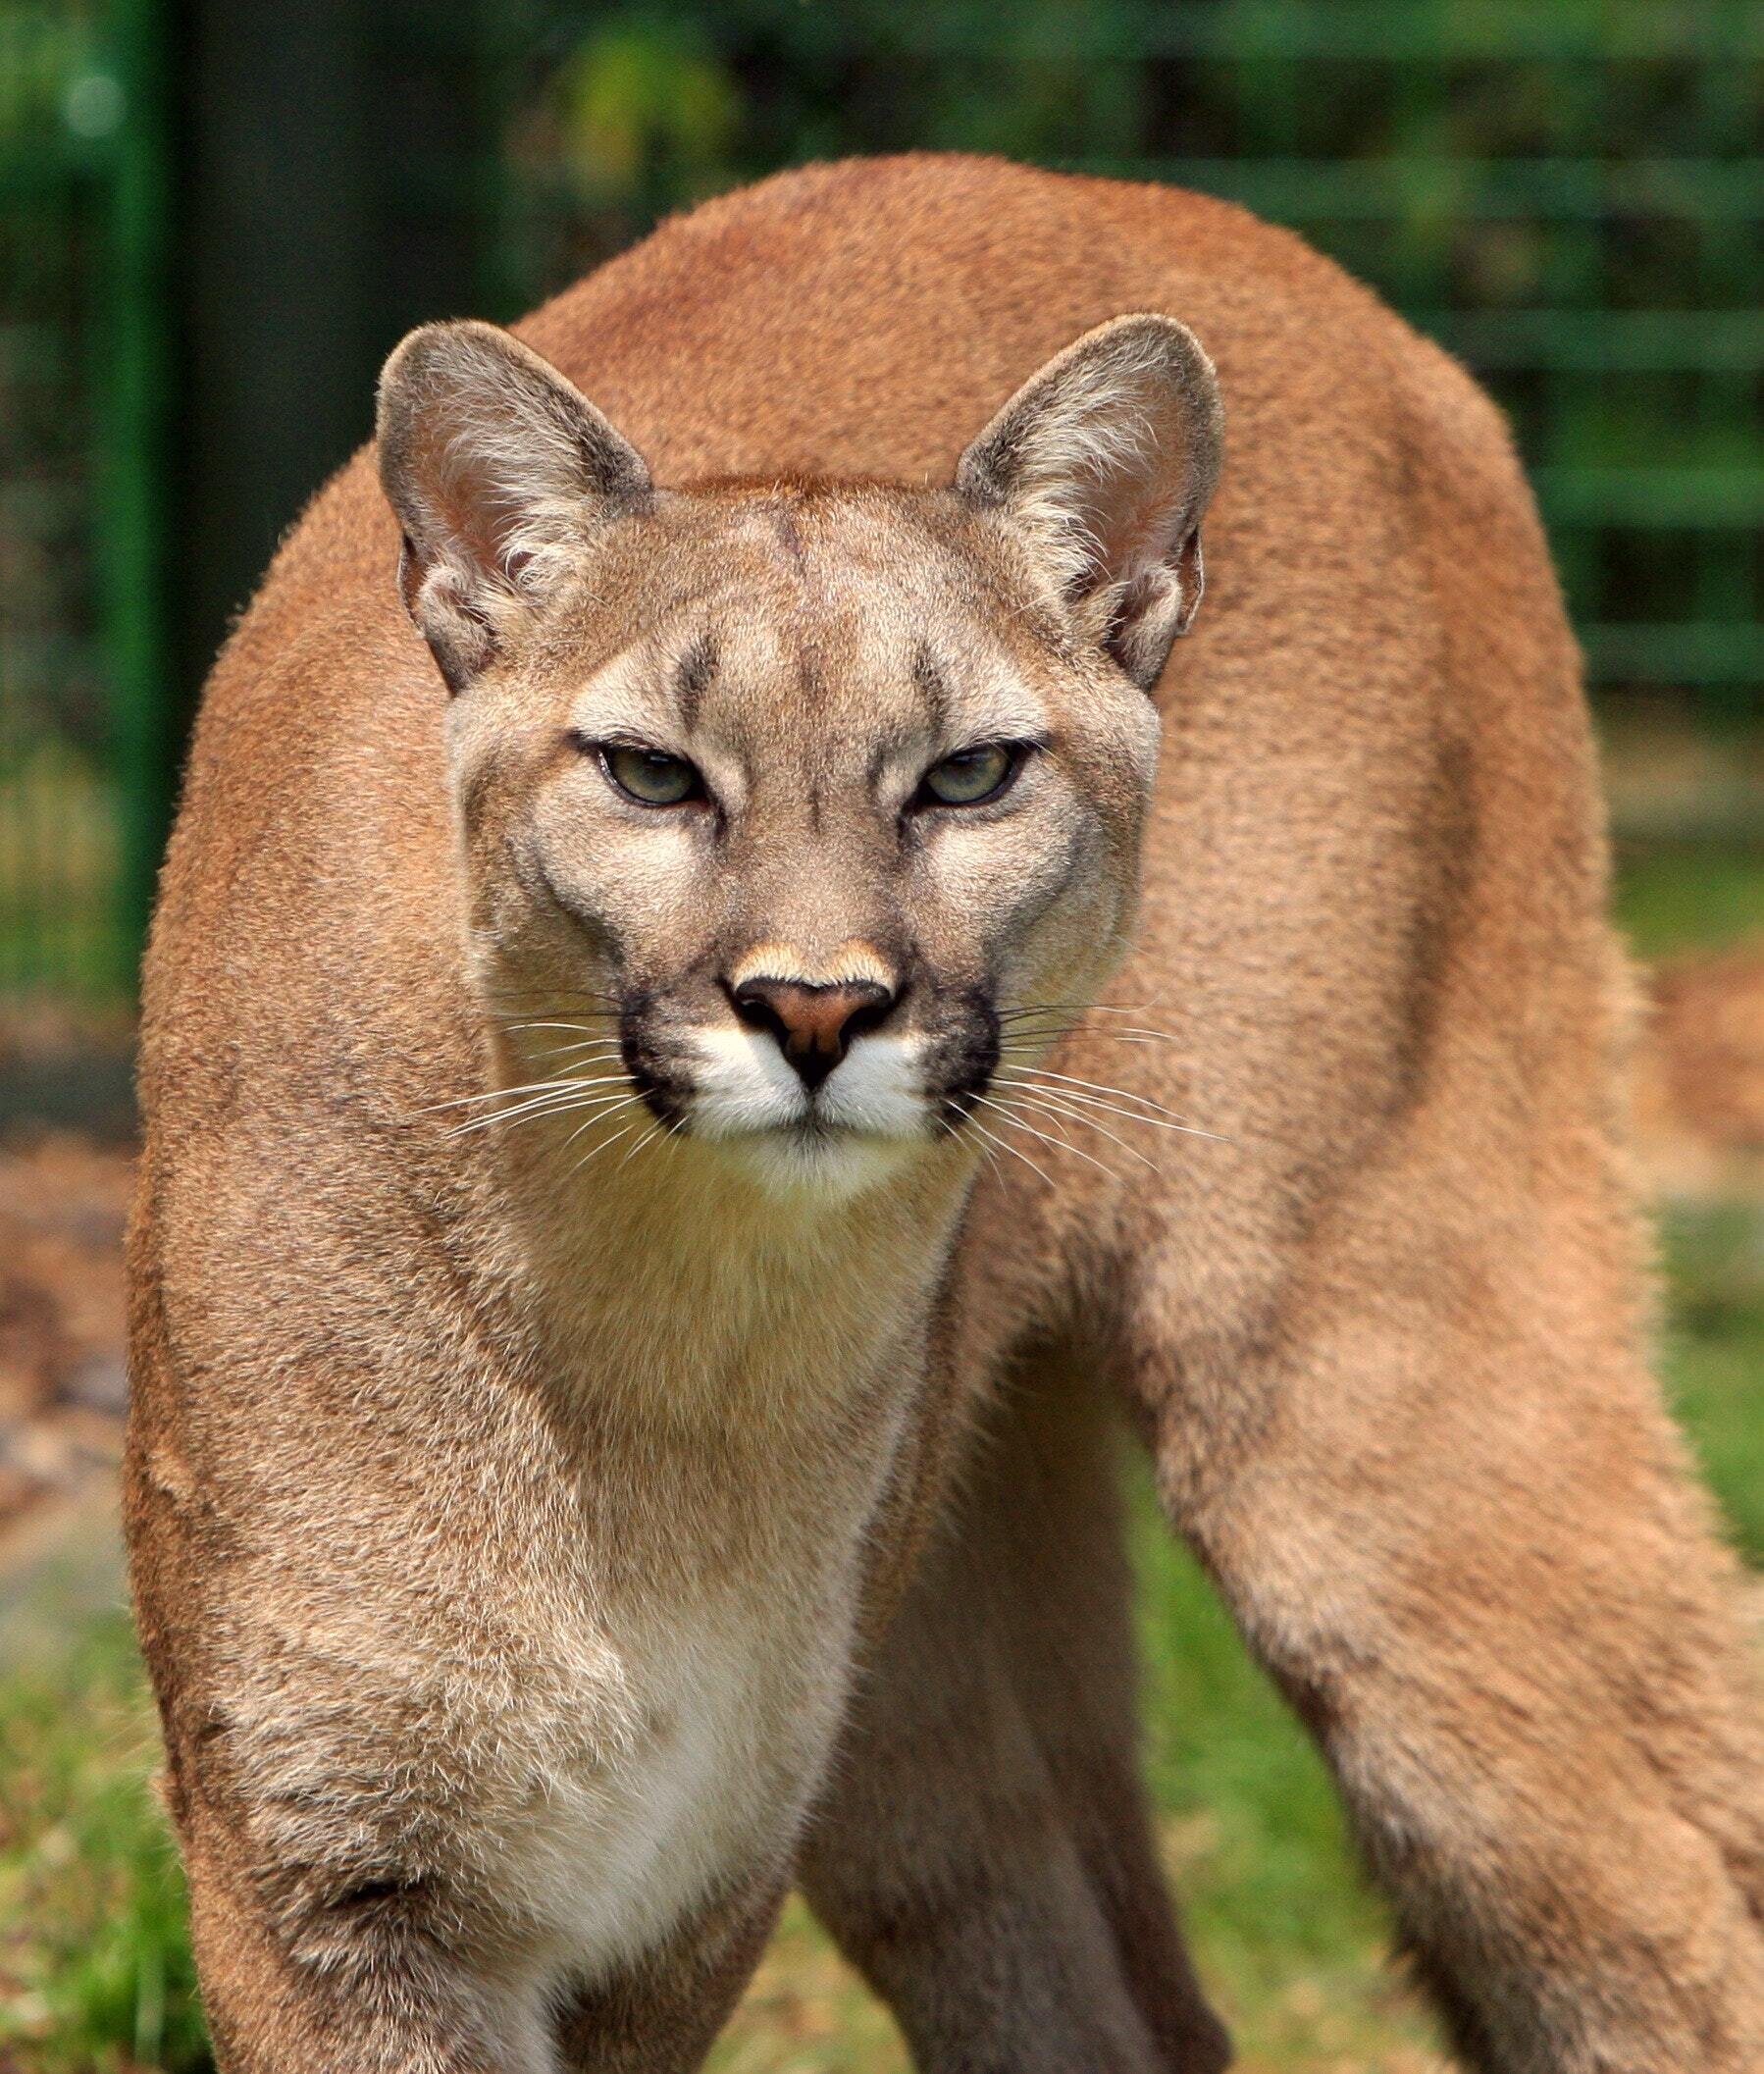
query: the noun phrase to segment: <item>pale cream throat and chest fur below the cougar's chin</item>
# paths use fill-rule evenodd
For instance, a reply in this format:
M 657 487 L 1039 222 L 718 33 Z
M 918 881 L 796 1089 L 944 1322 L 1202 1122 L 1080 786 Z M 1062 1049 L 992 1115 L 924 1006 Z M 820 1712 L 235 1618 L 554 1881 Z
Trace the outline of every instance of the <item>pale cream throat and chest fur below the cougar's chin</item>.
M 582 1599 L 535 1636 L 547 1690 L 537 1709 L 510 1694 L 522 1775 L 483 1825 L 529 1999 L 616 1972 L 725 1883 L 788 1865 L 924 1373 L 954 1186 L 804 1203 L 798 1230 L 711 1178 L 574 1244 L 535 1226 L 549 1340 L 597 1441 Z M 609 1334 L 628 1319 L 641 1332 Z

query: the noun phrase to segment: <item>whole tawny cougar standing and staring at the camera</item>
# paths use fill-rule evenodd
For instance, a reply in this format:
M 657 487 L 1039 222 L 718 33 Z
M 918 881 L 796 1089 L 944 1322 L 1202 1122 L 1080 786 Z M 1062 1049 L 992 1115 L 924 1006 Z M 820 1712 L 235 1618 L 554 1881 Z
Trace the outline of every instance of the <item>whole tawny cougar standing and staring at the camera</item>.
M 1223 2068 L 1126 1410 L 1463 2064 L 1758 2074 L 1604 904 L 1497 413 L 1240 209 L 813 168 L 412 334 L 145 985 L 222 2068 L 686 2070 L 792 1881 L 933 2074 Z

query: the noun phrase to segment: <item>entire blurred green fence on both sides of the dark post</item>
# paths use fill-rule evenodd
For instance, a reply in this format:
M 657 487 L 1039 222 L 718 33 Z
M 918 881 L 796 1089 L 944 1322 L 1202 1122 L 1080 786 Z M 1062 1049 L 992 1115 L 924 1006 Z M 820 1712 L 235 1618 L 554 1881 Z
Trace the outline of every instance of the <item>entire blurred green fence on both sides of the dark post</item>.
M 0 991 L 126 973 L 174 753 L 172 56 L 151 0 L 99 6 L 0 0 Z M 354 0 L 363 62 L 439 12 Z M 468 245 L 481 307 L 512 315 L 701 195 L 912 145 L 1242 199 L 1503 400 L 1600 695 L 1764 728 L 1756 0 L 483 0 L 448 23 L 471 62 L 431 73 L 471 110 L 425 124 L 417 97 L 371 160 L 406 274 L 412 234 Z M 363 413 L 390 342 L 365 342 Z

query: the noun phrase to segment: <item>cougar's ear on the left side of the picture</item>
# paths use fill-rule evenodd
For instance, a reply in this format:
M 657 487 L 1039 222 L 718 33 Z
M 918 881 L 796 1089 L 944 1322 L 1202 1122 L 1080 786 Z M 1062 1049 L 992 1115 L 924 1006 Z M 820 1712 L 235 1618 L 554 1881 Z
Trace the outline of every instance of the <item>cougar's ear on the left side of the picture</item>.
M 518 338 L 425 324 L 379 377 L 398 587 L 452 691 L 562 583 L 595 527 L 651 498 L 643 456 Z

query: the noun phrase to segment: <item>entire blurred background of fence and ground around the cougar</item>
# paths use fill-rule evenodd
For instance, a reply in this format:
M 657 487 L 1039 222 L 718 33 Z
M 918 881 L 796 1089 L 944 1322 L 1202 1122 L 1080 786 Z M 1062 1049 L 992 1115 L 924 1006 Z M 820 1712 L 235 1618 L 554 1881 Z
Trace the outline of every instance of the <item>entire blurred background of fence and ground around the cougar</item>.
M 133 975 L 214 649 L 406 326 L 906 147 L 1246 201 L 1507 409 L 1656 1004 L 1669 1373 L 1764 1560 L 1756 0 L 0 0 L 0 2074 L 207 2064 L 112 1470 Z M 1140 1539 L 1153 1784 L 1246 2066 L 1443 2068 L 1316 1761 Z M 904 2059 L 792 1914 L 717 2066 Z

